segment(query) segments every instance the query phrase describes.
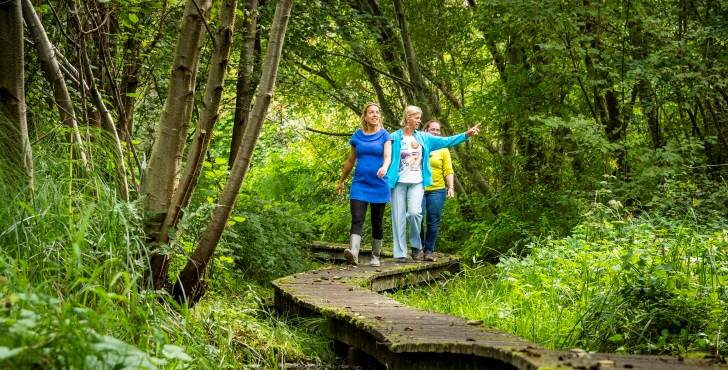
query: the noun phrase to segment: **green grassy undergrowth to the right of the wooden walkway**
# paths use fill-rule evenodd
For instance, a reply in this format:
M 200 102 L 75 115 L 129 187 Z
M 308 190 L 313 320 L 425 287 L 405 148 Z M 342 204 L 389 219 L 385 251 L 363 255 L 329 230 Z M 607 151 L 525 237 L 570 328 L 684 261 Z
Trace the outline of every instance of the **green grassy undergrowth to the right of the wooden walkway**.
M 395 298 L 548 348 L 728 354 L 728 224 L 597 206 L 572 235 Z

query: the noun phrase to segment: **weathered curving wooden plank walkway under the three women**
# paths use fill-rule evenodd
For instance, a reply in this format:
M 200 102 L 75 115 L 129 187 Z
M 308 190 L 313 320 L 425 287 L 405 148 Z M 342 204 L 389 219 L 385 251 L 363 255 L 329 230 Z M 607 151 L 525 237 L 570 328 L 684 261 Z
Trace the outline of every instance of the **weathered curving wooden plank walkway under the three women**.
M 343 246 L 319 243 L 315 253 L 343 258 Z M 362 254 L 361 261 L 367 260 Z M 360 261 L 360 262 L 361 262 Z M 726 369 L 707 360 L 553 351 L 465 319 L 403 306 L 378 292 L 437 279 L 459 268 L 457 259 L 381 267 L 337 266 L 273 282 L 284 312 L 326 318 L 326 332 L 388 369 Z M 475 325 L 474 325 L 475 324 Z M 367 356 L 362 356 L 366 358 Z

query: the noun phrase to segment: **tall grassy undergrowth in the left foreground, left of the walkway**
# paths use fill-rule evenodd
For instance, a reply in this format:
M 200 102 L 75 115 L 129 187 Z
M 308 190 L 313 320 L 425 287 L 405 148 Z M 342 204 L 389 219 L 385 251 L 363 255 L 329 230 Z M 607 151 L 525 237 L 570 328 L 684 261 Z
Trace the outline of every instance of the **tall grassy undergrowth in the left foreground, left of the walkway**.
M 142 283 L 139 204 L 113 169 L 79 175 L 68 148 L 34 152 L 33 195 L 0 173 L 0 369 L 279 368 L 332 360 L 315 320 L 267 308 L 272 292 L 218 274 L 194 309 Z M 108 155 L 99 145 L 95 163 Z M 109 163 L 109 162 L 106 162 Z M 224 288 L 221 288 L 224 287 Z

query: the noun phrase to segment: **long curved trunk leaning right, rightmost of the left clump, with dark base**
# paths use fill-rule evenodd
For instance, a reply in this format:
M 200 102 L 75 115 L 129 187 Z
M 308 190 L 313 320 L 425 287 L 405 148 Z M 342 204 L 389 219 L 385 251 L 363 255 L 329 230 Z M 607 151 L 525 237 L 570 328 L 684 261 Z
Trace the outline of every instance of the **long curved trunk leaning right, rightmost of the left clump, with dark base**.
M 253 149 L 260 135 L 268 106 L 273 97 L 278 63 L 283 51 L 283 40 L 286 35 L 288 18 L 291 14 L 293 0 L 279 0 L 276 12 L 273 16 L 270 37 L 268 39 L 268 50 L 266 51 L 265 64 L 261 73 L 260 87 L 255 99 L 255 107 L 250 112 L 248 125 L 243 135 L 241 147 L 235 158 L 225 188 L 218 200 L 217 208 L 213 212 L 212 219 L 207 225 L 199 245 L 189 257 L 187 265 L 179 275 L 177 283 L 172 292 L 173 297 L 179 301 L 186 301 L 193 306 L 205 294 L 204 275 L 207 265 L 210 263 L 218 241 L 222 236 L 225 224 L 230 217 L 230 212 L 235 206 L 235 201 L 240 191 L 240 185 L 245 179 L 248 171 Z

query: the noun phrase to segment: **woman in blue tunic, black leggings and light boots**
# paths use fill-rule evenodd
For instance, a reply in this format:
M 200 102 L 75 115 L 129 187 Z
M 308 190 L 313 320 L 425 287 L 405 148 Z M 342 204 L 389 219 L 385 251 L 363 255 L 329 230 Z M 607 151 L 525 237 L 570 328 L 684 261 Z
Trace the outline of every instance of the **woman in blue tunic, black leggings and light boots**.
M 359 247 L 361 230 L 367 214 L 367 206 L 371 208 L 372 223 L 372 266 L 379 266 L 379 254 L 382 251 L 384 229 L 384 207 L 389 202 L 389 186 L 387 169 L 391 162 L 392 142 L 389 133 L 382 127 L 379 106 L 368 103 L 361 115 L 361 129 L 357 130 L 349 140 L 351 149 L 344 162 L 344 169 L 339 178 L 337 192 L 344 194 L 344 183 L 356 163 L 354 180 L 349 192 L 351 208 L 350 247 L 344 251 L 346 260 L 353 265 L 359 263 Z

